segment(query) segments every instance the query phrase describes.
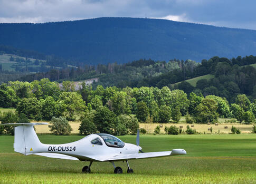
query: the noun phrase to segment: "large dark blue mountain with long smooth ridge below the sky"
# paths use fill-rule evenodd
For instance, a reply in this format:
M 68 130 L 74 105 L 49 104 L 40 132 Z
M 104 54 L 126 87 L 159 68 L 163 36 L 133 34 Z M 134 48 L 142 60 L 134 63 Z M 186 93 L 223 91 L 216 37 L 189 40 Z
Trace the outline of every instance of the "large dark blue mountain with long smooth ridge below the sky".
M 85 64 L 255 54 L 256 31 L 148 18 L 0 24 L 0 44 Z

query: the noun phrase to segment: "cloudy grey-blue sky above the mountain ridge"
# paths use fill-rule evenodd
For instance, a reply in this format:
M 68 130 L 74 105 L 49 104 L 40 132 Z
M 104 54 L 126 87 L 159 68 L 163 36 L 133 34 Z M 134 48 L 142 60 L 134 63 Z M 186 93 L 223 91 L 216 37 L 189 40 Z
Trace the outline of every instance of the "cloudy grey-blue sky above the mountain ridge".
M 0 23 L 162 18 L 256 30 L 255 0 L 0 0 Z

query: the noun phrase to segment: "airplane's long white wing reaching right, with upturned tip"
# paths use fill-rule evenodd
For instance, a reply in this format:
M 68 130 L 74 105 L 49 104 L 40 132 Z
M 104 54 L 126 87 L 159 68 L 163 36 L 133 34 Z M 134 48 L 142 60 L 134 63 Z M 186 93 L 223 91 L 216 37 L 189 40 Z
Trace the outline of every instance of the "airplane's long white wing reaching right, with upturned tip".
M 134 153 L 134 154 L 117 154 L 107 158 L 104 161 L 117 161 L 117 160 L 130 160 L 130 159 L 145 159 L 145 158 L 154 158 L 154 157 L 167 157 L 175 156 L 178 154 L 186 154 L 186 151 L 183 149 L 174 149 L 172 151 L 160 151 L 160 152 L 147 152 L 147 153 Z

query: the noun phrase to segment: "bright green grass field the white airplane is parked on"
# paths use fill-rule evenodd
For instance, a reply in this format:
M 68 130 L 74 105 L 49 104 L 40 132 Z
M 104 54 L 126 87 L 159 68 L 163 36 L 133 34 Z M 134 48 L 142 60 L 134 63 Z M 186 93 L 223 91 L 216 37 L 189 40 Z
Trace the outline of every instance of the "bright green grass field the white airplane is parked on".
M 78 135 L 39 136 L 43 143 L 67 143 Z M 136 136 L 119 137 L 129 143 Z M 184 148 L 185 156 L 131 160 L 133 174 L 113 174 L 106 162 L 93 162 L 90 174 L 81 173 L 88 162 L 23 156 L 13 151 L 12 136 L 0 136 L 0 183 L 255 183 L 256 135 L 141 135 L 143 151 Z

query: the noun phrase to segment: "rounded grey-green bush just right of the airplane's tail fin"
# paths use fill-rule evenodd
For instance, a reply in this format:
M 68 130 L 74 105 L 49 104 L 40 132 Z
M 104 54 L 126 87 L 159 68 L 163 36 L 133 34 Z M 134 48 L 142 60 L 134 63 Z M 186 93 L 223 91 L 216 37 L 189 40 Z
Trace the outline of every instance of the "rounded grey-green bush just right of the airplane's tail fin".
M 52 117 L 50 125 L 48 125 L 50 131 L 55 135 L 70 135 L 72 128 L 65 118 L 55 118 Z

